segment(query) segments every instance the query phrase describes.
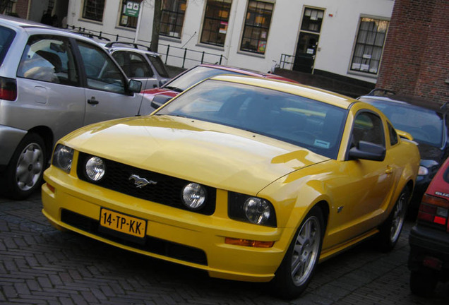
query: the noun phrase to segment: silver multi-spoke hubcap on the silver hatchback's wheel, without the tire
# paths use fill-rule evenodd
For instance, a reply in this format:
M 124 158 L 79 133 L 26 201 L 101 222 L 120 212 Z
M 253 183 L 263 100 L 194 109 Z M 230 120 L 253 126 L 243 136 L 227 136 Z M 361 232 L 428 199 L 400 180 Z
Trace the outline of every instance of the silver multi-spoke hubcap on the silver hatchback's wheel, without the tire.
M 37 143 L 28 144 L 20 153 L 16 166 L 18 189 L 28 191 L 40 179 L 44 166 L 44 153 Z

